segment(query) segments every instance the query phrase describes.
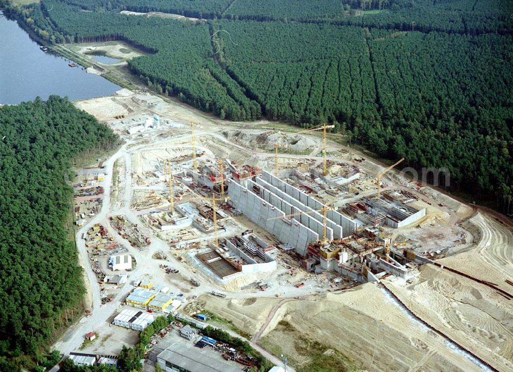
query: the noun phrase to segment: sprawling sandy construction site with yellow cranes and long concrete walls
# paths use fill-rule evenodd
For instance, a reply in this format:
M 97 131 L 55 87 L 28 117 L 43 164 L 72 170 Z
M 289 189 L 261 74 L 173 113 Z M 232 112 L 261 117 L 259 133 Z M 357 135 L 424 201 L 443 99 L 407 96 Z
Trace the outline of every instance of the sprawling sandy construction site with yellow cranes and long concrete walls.
M 507 220 L 412 179 L 403 159 L 333 141 L 328 125 L 229 123 L 128 90 L 76 105 L 124 144 L 75 180 L 91 315 L 57 345 L 65 354 L 146 309 L 239 333 L 287 370 L 328 357 L 513 369 Z M 144 319 L 85 350 L 119 353 Z M 183 352 L 168 337 L 145 369 Z

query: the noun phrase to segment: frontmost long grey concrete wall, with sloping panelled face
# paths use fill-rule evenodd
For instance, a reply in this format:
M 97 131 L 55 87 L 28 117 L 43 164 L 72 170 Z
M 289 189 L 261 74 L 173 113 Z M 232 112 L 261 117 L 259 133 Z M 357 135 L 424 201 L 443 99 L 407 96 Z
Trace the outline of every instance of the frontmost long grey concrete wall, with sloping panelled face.
M 297 221 L 290 222 L 282 218 L 269 219 L 283 217 L 285 213 L 239 183 L 232 180 L 228 180 L 228 183 L 228 196 L 235 208 L 282 243 L 293 246 L 300 255 L 306 254 L 308 244 L 319 240 L 318 233 Z

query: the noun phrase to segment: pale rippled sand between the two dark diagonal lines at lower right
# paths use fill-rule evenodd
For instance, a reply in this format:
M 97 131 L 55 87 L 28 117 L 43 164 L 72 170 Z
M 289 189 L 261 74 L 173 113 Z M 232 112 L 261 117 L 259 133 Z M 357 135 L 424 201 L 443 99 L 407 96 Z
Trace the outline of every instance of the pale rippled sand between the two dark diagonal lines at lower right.
M 432 265 L 405 286 L 386 281 L 422 319 L 499 370 L 513 368 L 513 307 L 491 288 Z

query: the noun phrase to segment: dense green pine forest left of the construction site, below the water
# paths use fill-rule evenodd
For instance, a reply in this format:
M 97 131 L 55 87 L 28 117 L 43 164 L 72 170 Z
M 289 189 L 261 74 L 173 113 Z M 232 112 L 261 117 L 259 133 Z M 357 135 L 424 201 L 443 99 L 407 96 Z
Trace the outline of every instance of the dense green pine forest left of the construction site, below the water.
M 0 128 L 0 370 L 17 370 L 24 354 L 52 367 L 60 356 L 44 349 L 83 315 L 71 160 L 117 137 L 57 96 L 0 107 Z

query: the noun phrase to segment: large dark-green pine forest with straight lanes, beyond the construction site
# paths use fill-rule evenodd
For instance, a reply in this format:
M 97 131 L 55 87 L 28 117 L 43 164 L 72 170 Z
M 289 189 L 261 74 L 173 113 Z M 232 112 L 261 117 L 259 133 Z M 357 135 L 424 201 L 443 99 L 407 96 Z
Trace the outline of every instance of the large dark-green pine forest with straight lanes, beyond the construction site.
M 17 12 L 51 43 L 144 48 L 129 66 L 159 93 L 229 120 L 334 123 L 380 156 L 447 168 L 453 190 L 508 213 L 511 8 L 503 0 L 42 0 Z

